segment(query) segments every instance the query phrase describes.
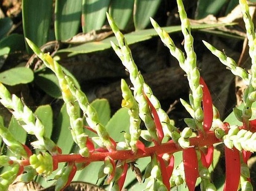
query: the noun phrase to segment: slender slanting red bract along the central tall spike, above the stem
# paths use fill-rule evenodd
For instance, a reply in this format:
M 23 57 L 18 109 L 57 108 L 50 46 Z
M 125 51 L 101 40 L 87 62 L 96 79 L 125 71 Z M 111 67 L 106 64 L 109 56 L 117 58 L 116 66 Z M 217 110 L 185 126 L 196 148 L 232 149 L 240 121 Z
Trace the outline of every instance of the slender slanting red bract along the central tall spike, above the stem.
M 146 96 L 146 94 L 144 92 L 143 92 L 143 95 L 146 98 L 146 101 L 148 102 L 149 108 L 151 109 L 152 115 L 154 117 L 155 127 L 157 129 L 158 140 L 161 143 L 164 138 L 164 132 L 163 132 L 163 128 L 162 128 L 160 119 L 157 114 L 157 110 L 155 109 L 155 107 L 153 106 L 151 101 L 148 99 L 148 96 Z

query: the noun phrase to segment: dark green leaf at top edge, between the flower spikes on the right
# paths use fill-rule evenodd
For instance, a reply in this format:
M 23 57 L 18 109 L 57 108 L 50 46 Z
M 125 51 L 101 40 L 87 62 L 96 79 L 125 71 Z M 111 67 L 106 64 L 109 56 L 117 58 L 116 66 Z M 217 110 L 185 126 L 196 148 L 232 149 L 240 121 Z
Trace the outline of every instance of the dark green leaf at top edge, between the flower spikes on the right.
M 227 2 L 228 0 L 198 0 L 195 18 L 202 19 L 207 15 L 216 15 Z

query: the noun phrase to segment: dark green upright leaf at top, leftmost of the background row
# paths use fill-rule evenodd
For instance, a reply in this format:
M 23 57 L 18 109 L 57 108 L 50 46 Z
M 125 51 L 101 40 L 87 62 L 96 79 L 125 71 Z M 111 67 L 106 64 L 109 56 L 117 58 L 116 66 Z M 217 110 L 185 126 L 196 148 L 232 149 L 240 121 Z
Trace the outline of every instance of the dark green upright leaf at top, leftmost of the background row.
M 24 37 L 41 47 L 48 41 L 53 0 L 22 0 Z M 26 43 L 27 51 L 33 53 Z

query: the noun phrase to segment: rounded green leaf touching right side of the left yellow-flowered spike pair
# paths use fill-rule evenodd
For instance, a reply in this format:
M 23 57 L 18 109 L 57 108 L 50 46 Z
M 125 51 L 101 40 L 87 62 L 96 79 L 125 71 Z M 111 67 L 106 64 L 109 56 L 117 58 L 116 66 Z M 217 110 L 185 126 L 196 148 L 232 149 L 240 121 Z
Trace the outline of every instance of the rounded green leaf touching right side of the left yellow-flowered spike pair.
M 95 99 L 91 105 L 96 109 L 99 121 L 102 125 L 106 125 L 110 120 L 111 110 L 107 99 Z

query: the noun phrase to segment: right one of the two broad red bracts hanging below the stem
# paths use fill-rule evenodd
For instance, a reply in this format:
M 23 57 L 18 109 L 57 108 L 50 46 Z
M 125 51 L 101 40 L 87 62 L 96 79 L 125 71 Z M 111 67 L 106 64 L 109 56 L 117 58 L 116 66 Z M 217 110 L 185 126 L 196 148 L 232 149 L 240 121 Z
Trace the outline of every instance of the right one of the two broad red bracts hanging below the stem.
M 223 191 L 237 191 L 240 181 L 240 153 L 233 147 L 225 147 L 226 180 Z

